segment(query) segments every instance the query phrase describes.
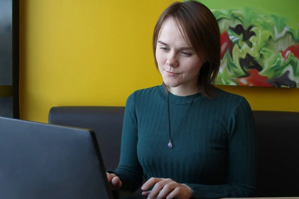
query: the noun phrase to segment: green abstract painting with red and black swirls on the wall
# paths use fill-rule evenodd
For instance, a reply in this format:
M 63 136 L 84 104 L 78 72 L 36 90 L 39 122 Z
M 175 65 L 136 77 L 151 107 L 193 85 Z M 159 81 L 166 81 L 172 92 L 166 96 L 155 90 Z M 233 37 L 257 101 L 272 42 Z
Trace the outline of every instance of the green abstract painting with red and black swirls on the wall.
M 198 1 L 221 32 L 215 84 L 299 88 L 299 0 Z

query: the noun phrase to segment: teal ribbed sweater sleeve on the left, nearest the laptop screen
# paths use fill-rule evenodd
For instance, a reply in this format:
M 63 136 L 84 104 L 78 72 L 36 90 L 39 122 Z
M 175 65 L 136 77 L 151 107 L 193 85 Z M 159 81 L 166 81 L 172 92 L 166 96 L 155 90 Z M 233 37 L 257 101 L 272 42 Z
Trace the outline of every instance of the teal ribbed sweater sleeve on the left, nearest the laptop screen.
M 118 168 L 107 171 L 116 174 L 123 183 L 121 189 L 128 192 L 135 192 L 143 181 L 143 169 L 137 157 L 138 122 L 134 94 L 131 94 L 126 102 Z

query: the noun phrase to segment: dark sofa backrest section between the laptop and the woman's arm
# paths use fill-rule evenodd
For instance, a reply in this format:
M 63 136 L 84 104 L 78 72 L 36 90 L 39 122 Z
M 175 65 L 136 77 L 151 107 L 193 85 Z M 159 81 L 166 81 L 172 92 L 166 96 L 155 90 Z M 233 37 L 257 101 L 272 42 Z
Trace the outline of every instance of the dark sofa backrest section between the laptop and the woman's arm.
M 59 106 L 49 111 L 48 123 L 89 128 L 95 131 L 105 168 L 119 164 L 124 107 Z

